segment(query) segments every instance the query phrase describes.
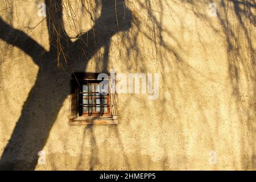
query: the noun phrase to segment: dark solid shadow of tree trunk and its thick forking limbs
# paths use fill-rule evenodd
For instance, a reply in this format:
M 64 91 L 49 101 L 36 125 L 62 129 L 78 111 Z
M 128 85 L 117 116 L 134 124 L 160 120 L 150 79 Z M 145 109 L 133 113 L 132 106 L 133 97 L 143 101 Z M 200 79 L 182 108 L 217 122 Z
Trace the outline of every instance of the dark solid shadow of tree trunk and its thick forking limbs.
M 35 168 L 38 152 L 44 147 L 59 109 L 69 94 L 73 64 L 82 56 L 85 67 L 81 69 L 85 70 L 90 58 L 101 47 L 105 47 L 105 56 L 108 57 L 106 50 L 112 36 L 131 27 L 131 11 L 123 0 L 97 1 L 98 6 L 101 6 L 100 16 L 90 30 L 81 32 L 77 40 L 72 42 L 64 28 L 63 1 L 44 2 L 49 51 L 23 31 L 15 30 L 0 19 L 0 39 L 20 48 L 40 68 L 35 85 L 24 102 L 22 113 L 1 156 L 1 169 Z

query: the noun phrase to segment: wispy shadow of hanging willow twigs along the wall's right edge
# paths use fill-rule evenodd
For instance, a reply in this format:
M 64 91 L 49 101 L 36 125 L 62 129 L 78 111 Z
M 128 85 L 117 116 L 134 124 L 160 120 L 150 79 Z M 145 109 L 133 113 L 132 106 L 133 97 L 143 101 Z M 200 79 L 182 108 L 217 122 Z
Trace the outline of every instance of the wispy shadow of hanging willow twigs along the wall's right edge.
M 213 30 L 214 25 L 207 21 L 205 14 L 197 9 L 199 1 L 187 0 L 195 15 L 204 20 Z M 206 5 L 212 1 L 203 1 Z M 219 13 L 221 12 L 221 14 Z M 241 156 L 241 164 L 245 169 L 255 168 L 255 118 L 256 104 L 256 1 L 255 0 L 221 0 L 217 7 L 218 22 L 226 39 L 226 54 L 228 55 L 228 73 L 233 96 L 236 100 L 236 110 L 241 127 L 241 153 L 244 147 L 250 148 L 251 155 Z M 217 32 L 217 30 L 216 30 Z M 253 85 L 249 84 L 252 83 Z M 253 92 L 246 93 L 245 90 Z M 247 101 L 247 104 L 245 104 Z M 252 112 L 251 112 L 252 111 Z M 251 140 L 244 133 L 249 132 Z M 233 145 L 236 148 L 236 144 Z

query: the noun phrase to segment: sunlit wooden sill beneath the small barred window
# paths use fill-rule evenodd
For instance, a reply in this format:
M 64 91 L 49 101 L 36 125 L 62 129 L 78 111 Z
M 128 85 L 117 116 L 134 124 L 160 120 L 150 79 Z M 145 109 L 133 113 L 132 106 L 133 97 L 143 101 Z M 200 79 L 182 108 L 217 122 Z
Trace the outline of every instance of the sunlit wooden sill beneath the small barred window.
M 117 125 L 118 117 L 87 118 L 77 117 L 69 120 L 69 125 Z

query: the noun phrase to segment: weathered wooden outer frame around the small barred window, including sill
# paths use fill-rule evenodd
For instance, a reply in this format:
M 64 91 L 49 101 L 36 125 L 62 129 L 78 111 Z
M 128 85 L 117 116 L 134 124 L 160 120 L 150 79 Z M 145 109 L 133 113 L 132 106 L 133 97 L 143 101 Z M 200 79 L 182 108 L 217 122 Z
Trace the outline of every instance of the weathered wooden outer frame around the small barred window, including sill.
M 75 72 L 72 73 L 72 78 L 70 81 L 71 84 L 71 94 L 70 94 L 70 115 L 69 115 L 69 124 L 70 125 L 115 125 L 118 123 L 118 115 L 117 115 L 117 93 L 110 93 L 108 96 L 109 108 L 108 114 L 105 115 L 94 115 L 93 117 L 88 115 L 81 115 L 81 110 L 79 110 L 79 104 L 81 103 L 81 99 L 79 97 L 80 87 L 82 82 L 85 81 L 98 81 L 97 76 L 100 73 L 81 73 Z M 110 73 L 106 73 L 109 76 L 109 85 L 112 84 L 112 80 L 110 80 Z M 113 74 L 113 73 L 112 73 Z M 81 84 L 80 84 L 81 83 Z

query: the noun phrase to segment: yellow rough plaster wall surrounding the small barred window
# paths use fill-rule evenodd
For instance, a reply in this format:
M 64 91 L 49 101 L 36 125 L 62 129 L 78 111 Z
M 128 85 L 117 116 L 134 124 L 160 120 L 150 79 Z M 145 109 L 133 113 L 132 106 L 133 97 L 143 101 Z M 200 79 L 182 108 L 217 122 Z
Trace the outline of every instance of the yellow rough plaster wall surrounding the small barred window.
M 26 135 L 37 138 L 50 129 L 42 148 L 46 164 L 36 165 L 36 170 L 255 170 L 255 19 L 241 14 L 244 5 L 235 1 L 214 2 L 217 17 L 209 16 L 209 1 L 126 1 L 133 23 L 112 36 L 108 56 L 107 47 L 101 47 L 88 63 L 81 58 L 73 65 L 82 72 L 159 73 L 157 100 L 148 100 L 148 94 L 118 94 L 118 125 L 69 125 L 70 73 L 61 77 L 65 71 L 52 69 L 40 93 L 31 94 L 39 71 L 48 68 L 40 69 L 18 47 L 0 40 L 0 156 L 28 97 L 46 96 L 26 111 L 34 122 L 24 129 Z M 12 11 L 0 11 L 1 18 L 48 50 L 47 23 L 40 22 L 38 3 L 12 3 Z M 91 27 L 80 6 L 73 6 L 79 14 L 77 27 L 65 21 L 69 36 Z M 6 3 L 0 7 L 4 10 Z M 109 16 L 115 18 L 113 11 Z M 48 90 L 54 79 L 59 84 Z M 58 92 L 67 97 L 55 100 Z M 48 115 L 46 103 L 59 108 Z M 52 125 L 34 127 L 49 119 Z M 30 146 L 26 142 L 13 145 Z M 210 151 L 216 152 L 217 164 L 209 164 Z M 19 152 L 0 166 L 13 160 L 25 165 L 39 151 Z

